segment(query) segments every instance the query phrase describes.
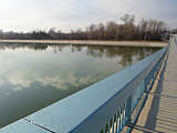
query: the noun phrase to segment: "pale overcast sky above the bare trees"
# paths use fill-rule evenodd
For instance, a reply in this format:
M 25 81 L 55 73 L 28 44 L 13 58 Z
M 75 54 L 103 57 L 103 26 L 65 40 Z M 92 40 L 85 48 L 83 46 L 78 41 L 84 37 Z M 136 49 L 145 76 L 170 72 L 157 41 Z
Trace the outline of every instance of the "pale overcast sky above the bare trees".
M 64 32 L 125 14 L 166 21 L 177 28 L 177 0 L 0 0 L 0 29 L 29 32 L 54 27 Z

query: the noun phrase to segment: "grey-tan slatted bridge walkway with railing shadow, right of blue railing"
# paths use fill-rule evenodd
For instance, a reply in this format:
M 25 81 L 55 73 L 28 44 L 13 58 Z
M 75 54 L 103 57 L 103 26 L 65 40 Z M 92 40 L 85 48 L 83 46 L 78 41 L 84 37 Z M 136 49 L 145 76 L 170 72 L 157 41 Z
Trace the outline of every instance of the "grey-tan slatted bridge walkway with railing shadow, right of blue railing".
M 150 106 L 147 105 L 149 101 Z M 169 47 L 166 69 L 143 110 L 133 132 L 177 133 L 177 45 L 174 41 Z

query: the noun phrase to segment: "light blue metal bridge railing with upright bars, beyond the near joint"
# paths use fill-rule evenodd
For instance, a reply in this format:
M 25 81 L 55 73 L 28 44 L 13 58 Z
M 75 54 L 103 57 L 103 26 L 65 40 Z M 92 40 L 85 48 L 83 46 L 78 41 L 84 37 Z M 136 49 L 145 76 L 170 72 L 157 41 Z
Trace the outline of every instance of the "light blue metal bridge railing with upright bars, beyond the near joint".
M 144 93 L 148 94 L 167 51 L 168 45 L 23 120 L 53 133 L 121 132 L 126 124 L 136 121 L 137 116 L 132 120 L 133 111 Z

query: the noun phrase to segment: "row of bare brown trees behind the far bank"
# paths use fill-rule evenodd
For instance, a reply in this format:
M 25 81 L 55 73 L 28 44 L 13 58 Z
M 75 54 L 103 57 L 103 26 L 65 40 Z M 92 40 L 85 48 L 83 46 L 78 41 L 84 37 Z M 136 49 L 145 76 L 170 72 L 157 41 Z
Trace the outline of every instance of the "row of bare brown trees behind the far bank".
M 90 24 L 86 29 L 71 30 L 64 33 L 56 28 L 49 31 L 35 30 L 32 32 L 3 32 L 0 30 L 0 39 L 51 39 L 51 40 L 162 40 L 163 34 L 169 30 L 164 21 L 156 19 L 142 19 L 135 22 L 135 16 L 124 14 L 121 23 L 110 21 L 106 23 Z M 173 30 L 177 32 L 177 29 Z

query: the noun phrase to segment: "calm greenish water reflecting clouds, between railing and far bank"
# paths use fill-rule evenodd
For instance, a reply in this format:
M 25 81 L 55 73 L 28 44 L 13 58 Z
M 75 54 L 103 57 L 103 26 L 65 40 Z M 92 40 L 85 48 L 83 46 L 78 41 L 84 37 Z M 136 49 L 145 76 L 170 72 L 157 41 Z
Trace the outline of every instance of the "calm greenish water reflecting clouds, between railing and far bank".
M 85 89 L 157 50 L 0 43 L 0 127 Z

